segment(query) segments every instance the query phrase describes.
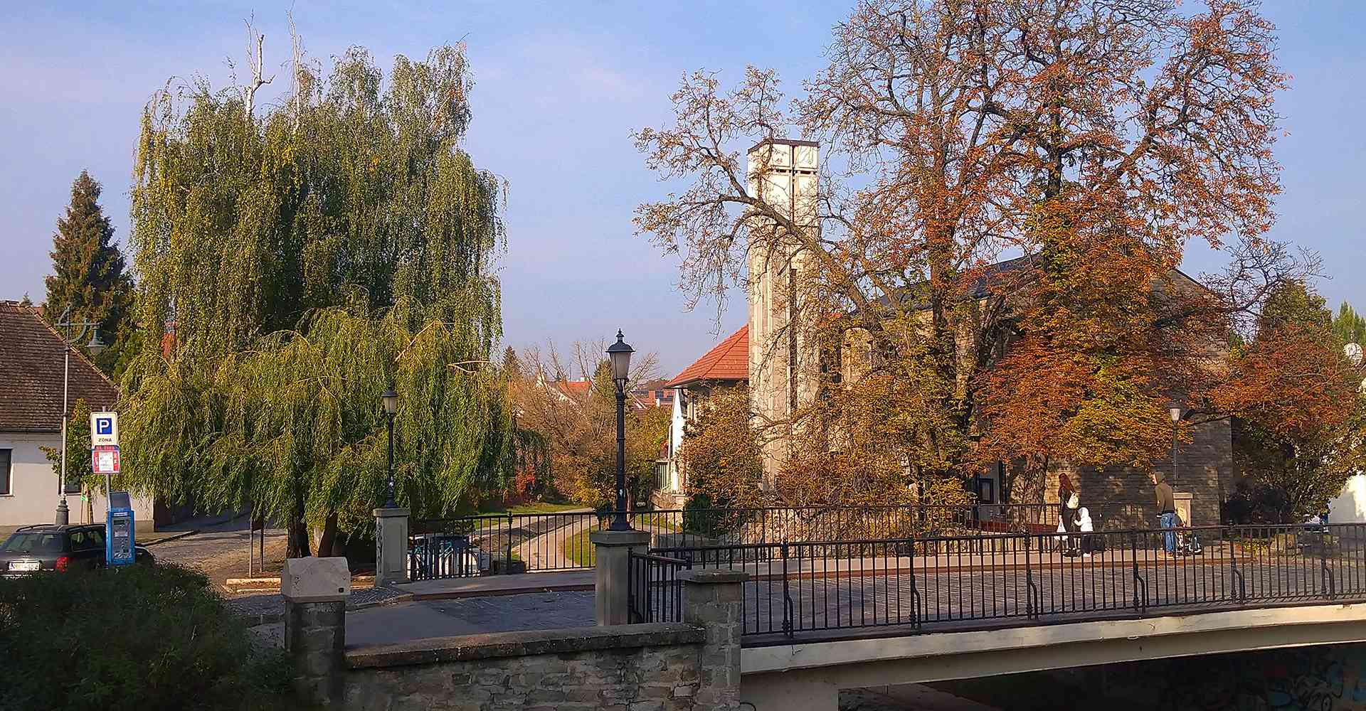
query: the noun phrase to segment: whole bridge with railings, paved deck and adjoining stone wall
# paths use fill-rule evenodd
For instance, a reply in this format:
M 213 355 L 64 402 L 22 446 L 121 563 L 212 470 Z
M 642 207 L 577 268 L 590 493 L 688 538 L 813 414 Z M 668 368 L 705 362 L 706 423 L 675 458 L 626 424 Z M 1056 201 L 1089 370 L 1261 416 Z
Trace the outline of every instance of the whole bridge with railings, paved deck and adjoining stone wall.
M 555 603 L 559 620 L 571 621 L 566 629 L 522 620 L 493 635 L 363 641 L 347 648 L 348 669 L 326 678 L 393 710 L 511 693 L 530 706 L 829 711 L 847 689 L 1161 659 L 1236 667 L 1212 655 L 1244 652 L 1285 655 L 1272 659 L 1280 666 L 1311 659 L 1326 677 L 1336 670 L 1336 686 L 1298 696 L 1311 703 L 1277 707 L 1366 708 L 1366 525 L 1060 535 L 962 520 L 911 531 L 840 516 L 836 525 L 807 525 L 781 513 L 729 535 L 683 534 L 646 512 L 624 532 L 546 516 L 484 524 L 482 539 L 428 525 L 411 549 L 414 577 L 485 573 L 475 549 L 489 540 L 505 551 L 560 543 L 564 557 L 538 560 L 582 565 L 571 542 L 589 538 L 596 590 Z M 896 521 L 925 519 L 911 512 Z M 555 542 L 560 529 L 572 535 Z M 519 630 L 503 632 L 511 629 Z M 1281 689 L 1257 693 L 1265 701 L 1273 692 Z

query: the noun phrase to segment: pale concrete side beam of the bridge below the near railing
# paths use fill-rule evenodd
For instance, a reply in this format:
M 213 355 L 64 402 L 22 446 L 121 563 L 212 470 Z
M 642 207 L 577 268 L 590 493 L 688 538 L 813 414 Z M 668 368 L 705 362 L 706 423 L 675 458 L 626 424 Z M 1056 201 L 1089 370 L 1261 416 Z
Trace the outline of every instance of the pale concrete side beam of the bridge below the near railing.
M 746 648 L 755 711 L 833 711 L 840 689 L 1366 641 L 1366 603 L 1210 611 Z

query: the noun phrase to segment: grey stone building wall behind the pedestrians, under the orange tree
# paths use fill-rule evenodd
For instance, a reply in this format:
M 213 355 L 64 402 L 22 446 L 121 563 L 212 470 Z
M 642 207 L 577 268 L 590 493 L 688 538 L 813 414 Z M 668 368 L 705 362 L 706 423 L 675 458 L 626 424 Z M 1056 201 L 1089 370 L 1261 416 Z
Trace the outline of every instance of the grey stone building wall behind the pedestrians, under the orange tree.
M 1191 442 L 1176 448 L 1176 475 L 1171 456 L 1153 460 L 1153 468 L 1177 493 L 1191 494 L 1191 525 L 1218 525 L 1223 502 L 1233 491 L 1233 439 L 1228 420 L 1191 427 Z M 1157 525 L 1157 501 L 1145 469 L 1137 467 L 1075 467 L 1065 461 L 1049 465 L 1044 501 L 1057 504 L 1059 475 L 1067 474 L 1078 489 L 1082 505 L 1093 516 L 1102 514 L 1098 525 L 1116 528 L 1153 528 Z

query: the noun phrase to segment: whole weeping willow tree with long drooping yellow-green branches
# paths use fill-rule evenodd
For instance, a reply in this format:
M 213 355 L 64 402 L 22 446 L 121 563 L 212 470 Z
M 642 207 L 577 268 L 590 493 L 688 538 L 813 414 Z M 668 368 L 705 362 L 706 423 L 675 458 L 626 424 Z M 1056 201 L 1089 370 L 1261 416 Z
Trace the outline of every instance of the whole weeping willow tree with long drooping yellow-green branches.
M 493 360 L 505 239 L 499 180 L 459 147 L 462 48 L 388 82 L 363 49 L 292 71 L 265 109 L 258 74 L 143 112 L 131 242 L 161 348 L 126 378 L 124 457 L 131 486 L 287 521 L 301 555 L 309 525 L 326 553 L 384 501 L 391 383 L 414 513 L 503 486 L 515 448 L 500 377 L 449 367 Z

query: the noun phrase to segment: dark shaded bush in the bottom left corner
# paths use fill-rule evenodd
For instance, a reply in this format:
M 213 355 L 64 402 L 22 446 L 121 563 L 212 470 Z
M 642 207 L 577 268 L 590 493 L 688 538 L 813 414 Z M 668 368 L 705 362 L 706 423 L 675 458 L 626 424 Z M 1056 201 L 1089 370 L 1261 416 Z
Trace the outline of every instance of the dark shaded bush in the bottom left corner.
M 296 708 L 209 580 L 173 565 L 0 579 L 0 710 Z

